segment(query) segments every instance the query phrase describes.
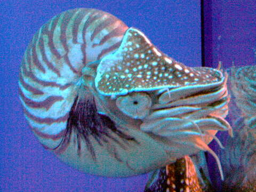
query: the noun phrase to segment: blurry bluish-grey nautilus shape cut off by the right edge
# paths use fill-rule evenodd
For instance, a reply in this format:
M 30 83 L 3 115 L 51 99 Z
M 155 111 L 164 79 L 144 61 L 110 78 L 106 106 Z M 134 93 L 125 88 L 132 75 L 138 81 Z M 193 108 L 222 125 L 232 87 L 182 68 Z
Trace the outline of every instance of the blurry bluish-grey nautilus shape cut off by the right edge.
M 225 150 L 220 151 L 223 191 L 256 191 L 256 66 L 228 70 L 233 102 L 241 110 L 241 118 L 233 125 L 235 137 L 228 138 Z

